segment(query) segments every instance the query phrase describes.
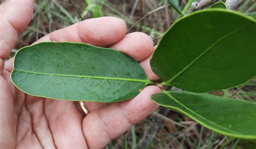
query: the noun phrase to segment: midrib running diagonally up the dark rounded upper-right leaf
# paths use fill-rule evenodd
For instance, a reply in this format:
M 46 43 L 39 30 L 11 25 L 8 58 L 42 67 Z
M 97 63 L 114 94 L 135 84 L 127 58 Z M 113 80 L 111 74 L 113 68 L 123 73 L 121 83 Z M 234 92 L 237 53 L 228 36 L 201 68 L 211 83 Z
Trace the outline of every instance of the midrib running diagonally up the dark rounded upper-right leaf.
M 217 45 L 221 40 L 231 36 L 232 34 L 244 29 L 246 26 L 242 26 L 240 28 L 238 28 L 237 30 L 231 31 L 227 34 L 225 34 L 224 36 L 220 37 L 218 40 L 216 40 L 215 42 L 213 42 L 213 44 L 211 44 L 210 46 L 208 46 L 205 51 L 203 51 L 200 55 L 198 55 L 194 60 L 192 60 L 190 63 L 188 63 L 188 65 L 186 67 L 184 67 L 183 69 L 180 70 L 180 72 L 178 72 L 176 75 L 174 75 L 171 79 L 169 79 L 166 82 L 163 82 L 163 85 L 166 86 L 168 84 L 170 84 L 173 80 L 175 80 L 179 75 L 181 75 L 182 73 L 184 73 L 188 68 L 190 68 L 195 62 L 197 62 L 203 55 L 205 55 L 208 51 L 210 51 L 210 49 L 212 49 L 212 47 L 214 47 L 215 45 Z

